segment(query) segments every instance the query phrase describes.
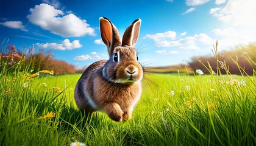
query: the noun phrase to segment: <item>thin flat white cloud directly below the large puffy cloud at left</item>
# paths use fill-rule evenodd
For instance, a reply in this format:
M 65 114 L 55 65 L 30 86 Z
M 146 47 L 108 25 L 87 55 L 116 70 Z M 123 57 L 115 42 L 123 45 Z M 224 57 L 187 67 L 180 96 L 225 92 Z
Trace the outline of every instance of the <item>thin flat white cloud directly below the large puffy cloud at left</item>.
M 49 49 L 55 49 L 55 50 L 71 50 L 82 47 L 82 44 L 79 43 L 79 40 L 74 40 L 72 43 L 65 39 L 62 41 L 61 44 L 57 43 L 45 43 L 45 44 L 38 44 L 39 47 L 42 48 L 49 48 Z

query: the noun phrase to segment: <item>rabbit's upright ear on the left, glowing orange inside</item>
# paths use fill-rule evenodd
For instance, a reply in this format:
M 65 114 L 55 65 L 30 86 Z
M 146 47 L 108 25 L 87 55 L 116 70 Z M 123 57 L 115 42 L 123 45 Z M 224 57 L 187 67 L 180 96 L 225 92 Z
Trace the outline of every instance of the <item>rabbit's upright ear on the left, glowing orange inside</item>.
M 114 48 L 121 46 L 120 36 L 115 25 L 105 17 L 99 18 L 99 27 L 101 29 L 101 38 L 107 46 L 108 54 L 111 57 L 114 54 Z

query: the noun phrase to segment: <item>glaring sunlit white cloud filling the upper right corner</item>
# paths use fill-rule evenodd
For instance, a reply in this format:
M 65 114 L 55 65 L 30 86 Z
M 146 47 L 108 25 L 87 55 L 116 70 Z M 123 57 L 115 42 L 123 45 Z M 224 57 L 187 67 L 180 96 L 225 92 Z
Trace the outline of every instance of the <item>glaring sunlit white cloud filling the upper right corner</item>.
M 255 5 L 255 0 L 230 0 L 223 7 L 210 10 L 210 14 L 226 26 L 224 29 L 212 30 L 221 46 L 220 49 L 256 42 Z

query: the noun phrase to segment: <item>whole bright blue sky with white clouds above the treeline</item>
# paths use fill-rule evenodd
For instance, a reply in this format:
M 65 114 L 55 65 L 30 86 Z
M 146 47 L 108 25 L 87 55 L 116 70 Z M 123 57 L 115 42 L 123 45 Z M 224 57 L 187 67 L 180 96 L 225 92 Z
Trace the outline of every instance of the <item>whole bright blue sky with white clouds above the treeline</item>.
M 19 49 L 52 49 L 58 60 L 77 68 L 108 59 L 99 17 L 112 21 L 123 36 L 140 18 L 135 48 L 146 66 L 168 66 L 219 50 L 255 43 L 255 0 L 58 1 L 1 0 L 0 40 Z

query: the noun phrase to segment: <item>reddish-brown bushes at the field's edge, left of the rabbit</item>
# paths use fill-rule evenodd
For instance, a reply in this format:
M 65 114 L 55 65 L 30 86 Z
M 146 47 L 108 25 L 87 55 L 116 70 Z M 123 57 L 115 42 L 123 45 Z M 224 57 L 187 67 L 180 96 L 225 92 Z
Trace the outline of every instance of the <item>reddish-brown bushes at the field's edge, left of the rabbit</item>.
M 74 74 L 83 72 L 84 69 L 76 69 L 73 64 L 66 63 L 65 61 L 54 59 L 54 54 L 49 50 L 44 52 L 43 49 L 39 49 L 38 52 L 34 52 L 34 46 L 26 49 L 23 48 L 23 51 L 16 49 L 15 46 L 9 44 L 3 49 L 1 46 L 0 51 L 1 63 L 8 63 L 9 68 L 19 61 L 22 61 L 23 68 L 29 69 L 31 73 L 38 71 L 48 70 L 54 71 L 54 74 Z M 0 70 L 1 70 L 0 64 Z M 29 66 L 29 68 L 27 68 Z M 12 72 L 15 68 L 10 68 L 8 71 Z

